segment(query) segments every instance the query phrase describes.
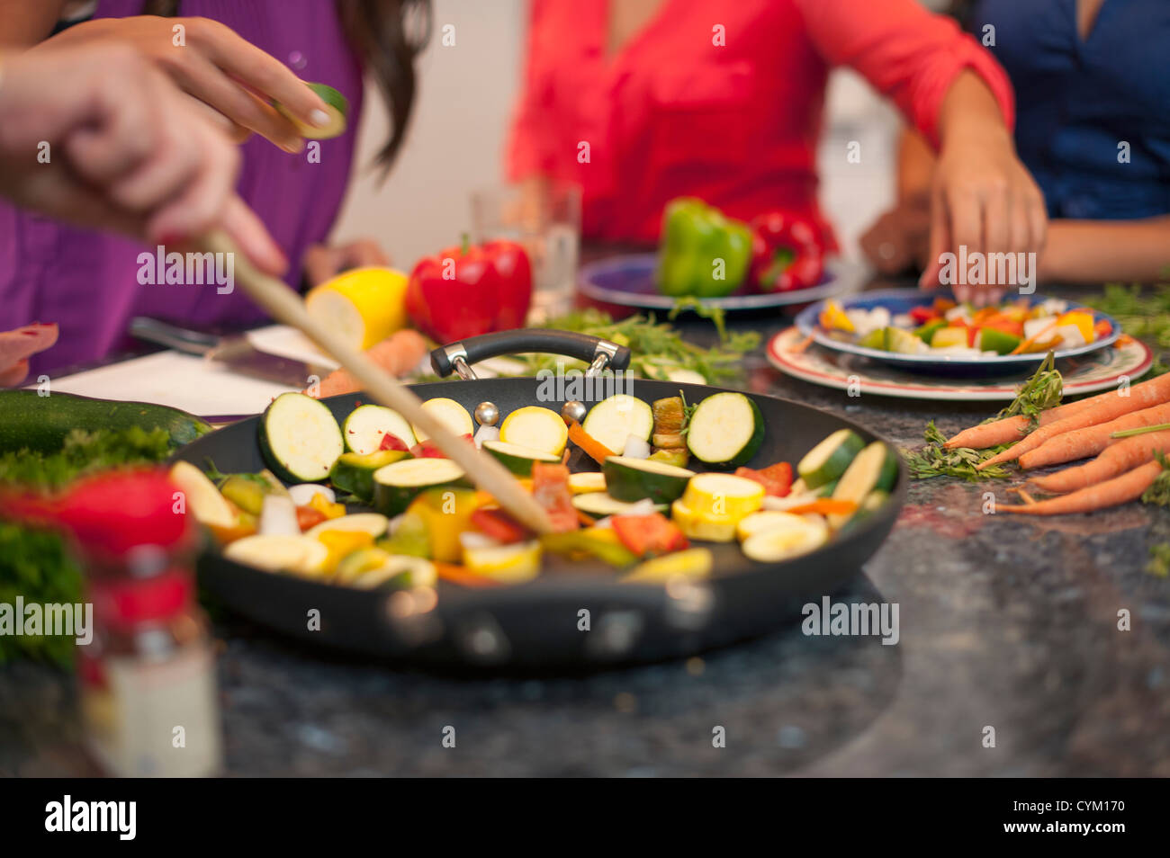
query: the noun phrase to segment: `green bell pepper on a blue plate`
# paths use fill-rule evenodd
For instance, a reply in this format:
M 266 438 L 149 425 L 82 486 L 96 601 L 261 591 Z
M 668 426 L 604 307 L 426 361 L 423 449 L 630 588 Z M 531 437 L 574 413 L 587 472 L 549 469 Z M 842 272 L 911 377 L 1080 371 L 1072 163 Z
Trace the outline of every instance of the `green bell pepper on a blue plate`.
M 655 281 L 662 295 L 722 298 L 738 289 L 751 268 L 752 234 L 693 196 L 667 203 L 662 214 Z

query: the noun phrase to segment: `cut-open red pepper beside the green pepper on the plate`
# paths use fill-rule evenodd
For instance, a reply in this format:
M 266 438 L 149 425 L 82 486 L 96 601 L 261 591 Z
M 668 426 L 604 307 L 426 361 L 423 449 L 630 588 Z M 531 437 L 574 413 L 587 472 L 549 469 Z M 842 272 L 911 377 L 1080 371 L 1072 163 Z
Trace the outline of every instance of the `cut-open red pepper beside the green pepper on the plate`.
M 764 292 L 790 292 L 820 283 L 825 271 L 821 231 L 811 220 L 769 212 L 751 221 L 751 274 Z

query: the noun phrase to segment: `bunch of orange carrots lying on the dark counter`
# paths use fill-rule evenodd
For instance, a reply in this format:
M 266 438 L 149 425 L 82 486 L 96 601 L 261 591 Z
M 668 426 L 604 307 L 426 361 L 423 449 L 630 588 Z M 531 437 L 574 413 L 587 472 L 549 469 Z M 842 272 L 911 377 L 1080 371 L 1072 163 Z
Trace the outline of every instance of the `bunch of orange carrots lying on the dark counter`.
M 1062 497 L 1000 505 L 998 511 L 1057 516 L 1135 500 L 1162 472 L 1159 457 L 1170 455 L 1170 374 L 1134 385 L 1124 393 L 1113 390 L 1049 408 L 1040 413 L 1031 433 L 1030 425 L 1025 416 L 1005 417 L 966 429 L 948 440 L 945 447 L 985 449 L 1011 444 L 982 462 L 979 470 L 1003 462 L 1017 462 L 1027 470 L 1096 458 L 1032 478 L 1035 489 Z

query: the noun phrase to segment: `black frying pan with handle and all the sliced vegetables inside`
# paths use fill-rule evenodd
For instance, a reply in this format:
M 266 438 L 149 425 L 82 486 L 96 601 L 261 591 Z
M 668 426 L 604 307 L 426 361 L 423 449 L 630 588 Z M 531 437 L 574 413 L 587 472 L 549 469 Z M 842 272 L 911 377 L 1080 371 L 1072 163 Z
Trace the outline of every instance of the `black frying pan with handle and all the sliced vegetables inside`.
M 902 461 L 869 430 L 762 394 L 625 376 L 632 355 L 614 341 L 509 331 L 432 364 L 446 376 L 534 351 L 611 355 L 621 372 L 412 389 L 510 470 L 555 532 L 526 531 L 392 409 L 287 393 L 176 456 L 172 479 L 208 532 L 201 583 L 280 631 L 392 660 L 601 666 L 798 618 L 897 517 Z

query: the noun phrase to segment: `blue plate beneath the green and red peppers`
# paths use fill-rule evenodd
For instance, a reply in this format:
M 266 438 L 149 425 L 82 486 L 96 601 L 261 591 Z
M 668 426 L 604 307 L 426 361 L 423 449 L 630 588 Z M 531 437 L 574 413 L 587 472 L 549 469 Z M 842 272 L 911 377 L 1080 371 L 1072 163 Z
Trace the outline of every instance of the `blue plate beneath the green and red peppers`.
M 654 285 L 656 254 L 621 254 L 581 265 L 577 288 L 586 298 L 603 304 L 638 307 L 639 310 L 672 310 L 675 298 L 662 295 Z M 858 291 L 867 277 L 861 265 L 840 260 L 826 260 L 825 275 L 811 289 L 794 292 L 729 295 L 725 298 L 703 298 L 709 307 L 736 312 L 769 310 L 811 300 L 832 298 Z

